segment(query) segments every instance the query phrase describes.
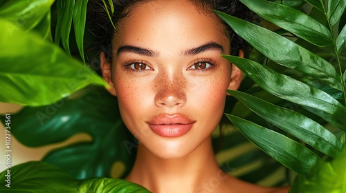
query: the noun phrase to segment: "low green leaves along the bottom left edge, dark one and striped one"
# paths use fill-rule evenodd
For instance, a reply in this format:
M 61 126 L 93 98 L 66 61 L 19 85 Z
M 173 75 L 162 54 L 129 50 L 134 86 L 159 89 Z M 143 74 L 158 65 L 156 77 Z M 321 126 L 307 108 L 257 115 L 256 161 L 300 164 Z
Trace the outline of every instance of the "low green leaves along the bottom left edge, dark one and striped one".
M 144 187 L 120 179 L 73 179 L 58 167 L 45 162 L 28 162 L 1 172 L 1 192 L 149 192 Z M 6 182 L 10 174 L 10 187 Z M 47 178 L 49 174 L 49 178 Z

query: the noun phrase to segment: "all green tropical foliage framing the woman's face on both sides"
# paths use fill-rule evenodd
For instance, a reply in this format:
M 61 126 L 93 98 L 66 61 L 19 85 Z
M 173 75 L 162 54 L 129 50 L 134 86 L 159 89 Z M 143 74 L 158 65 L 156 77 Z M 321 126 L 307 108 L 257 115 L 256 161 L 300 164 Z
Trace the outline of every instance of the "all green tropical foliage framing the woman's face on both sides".
M 242 0 L 263 19 L 284 29 L 277 32 L 216 12 L 255 48 L 250 54 L 253 61 L 223 56 L 248 76 L 240 88 L 248 94 L 229 91 L 241 103 L 231 99 L 232 106 L 226 109 L 233 115 L 227 116 L 261 150 L 300 174 L 291 192 L 322 188 L 345 192 L 346 3 L 306 1 L 314 7 L 309 14 L 299 11 L 302 0 Z M 46 163 L 12 167 L 12 185 L 28 192 L 147 192 L 119 179 L 94 178 L 109 177 L 116 161 L 125 163 L 125 176 L 134 161 L 137 142 L 123 125 L 113 96 L 102 88 L 81 90 L 89 84 L 105 85 L 86 65 L 71 58 L 72 45 L 76 44 L 85 62 L 88 1 L 53 2 L 0 2 L 0 47 L 6 48 L 0 54 L 0 101 L 30 105 L 12 114 L 16 119 L 11 124 L 16 128 L 12 134 L 25 145 L 53 144 L 78 133 L 89 134 L 92 140 L 53 150 L 44 157 L 64 172 Z M 111 18 L 112 1 L 102 3 Z M 57 21 L 52 21 L 55 11 Z M 55 26 L 55 44 L 51 43 L 51 26 Z M 67 54 L 59 47 L 60 42 Z M 326 122 L 340 129 L 340 140 L 324 127 Z M 224 152 L 249 143 L 239 132 L 224 134 L 224 141 Z M 220 161 L 221 167 L 232 172 L 243 165 L 261 163 L 256 170 L 238 176 L 255 183 L 282 167 L 264 152 L 256 149 L 227 156 Z M 4 179 L 0 180 L 3 183 Z

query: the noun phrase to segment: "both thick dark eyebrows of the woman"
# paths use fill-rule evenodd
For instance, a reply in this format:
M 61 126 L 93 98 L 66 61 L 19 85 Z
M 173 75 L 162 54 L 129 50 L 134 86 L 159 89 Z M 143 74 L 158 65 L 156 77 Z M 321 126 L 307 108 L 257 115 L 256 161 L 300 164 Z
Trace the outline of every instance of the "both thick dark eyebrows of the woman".
M 219 50 L 221 53 L 223 53 L 224 47 L 222 47 L 222 45 L 220 45 L 219 43 L 216 43 L 215 41 L 210 41 L 210 42 L 205 43 L 203 45 L 199 45 L 196 48 L 191 48 L 189 50 L 185 50 L 183 52 L 183 55 L 184 56 L 192 56 L 192 55 L 196 55 L 196 54 L 199 54 L 201 52 L 206 52 L 206 51 L 210 51 L 210 50 Z M 147 57 L 158 57 L 158 55 L 159 55 L 159 53 L 156 51 L 149 50 L 147 48 L 140 48 L 140 47 L 134 46 L 134 45 L 122 45 L 122 46 L 120 46 L 120 48 L 118 48 L 116 54 L 118 56 L 119 54 L 122 54 L 125 52 L 140 54 L 140 55 L 147 56 Z

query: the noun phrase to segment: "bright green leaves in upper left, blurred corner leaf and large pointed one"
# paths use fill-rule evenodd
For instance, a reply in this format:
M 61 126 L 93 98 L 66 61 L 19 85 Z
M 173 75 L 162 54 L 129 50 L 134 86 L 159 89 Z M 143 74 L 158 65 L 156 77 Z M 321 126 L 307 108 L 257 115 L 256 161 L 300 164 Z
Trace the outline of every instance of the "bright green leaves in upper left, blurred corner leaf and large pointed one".
M 0 8 L 5 18 L 0 19 L 0 47 L 4 48 L 0 54 L 0 101 L 48 105 L 86 85 L 106 85 L 86 65 L 49 41 L 51 3 L 35 1 L 28 6 L 28 1 L 8 1 Z M 17 18 L 12 17 L 16 11 Z M 27 17 L 28 12 L 35 14 Z M 16 23 L 21 18 L 23 23 Z

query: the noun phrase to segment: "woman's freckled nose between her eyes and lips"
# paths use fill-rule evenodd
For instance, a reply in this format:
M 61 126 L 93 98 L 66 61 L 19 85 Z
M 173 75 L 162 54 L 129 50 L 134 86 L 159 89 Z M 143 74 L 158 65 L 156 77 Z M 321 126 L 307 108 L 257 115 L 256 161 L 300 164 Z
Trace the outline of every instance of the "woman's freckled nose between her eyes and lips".
M 165 73 L 155 80 L 155 105 L 159 107 L 181 107 L 185 105 L 186 81 L 182 73 Z

